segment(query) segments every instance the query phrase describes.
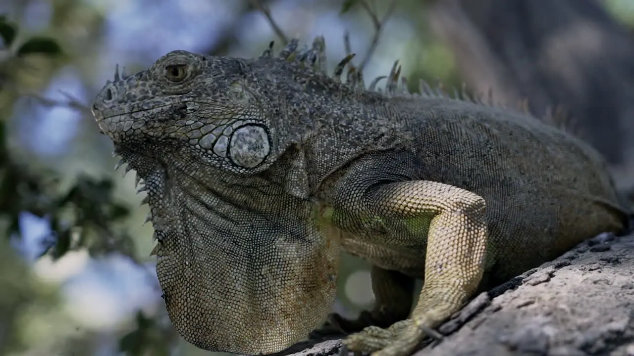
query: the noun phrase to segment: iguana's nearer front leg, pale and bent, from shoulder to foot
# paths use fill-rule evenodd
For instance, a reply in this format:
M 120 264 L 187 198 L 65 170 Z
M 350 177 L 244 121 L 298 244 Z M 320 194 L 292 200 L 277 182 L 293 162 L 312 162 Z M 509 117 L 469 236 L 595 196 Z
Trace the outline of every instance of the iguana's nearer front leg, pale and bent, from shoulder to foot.
M 486 205 L 481 196 L 448 184 L 408 181 L 417 175 L 403 172 L 411 161 L 403 165 L 389 156 L 362 161 L 354 163 L 339 183 L 333 224 L 378 249 L 425 246 L 427 239 L 426 251 L 411 251 L 425 259 L 425 281 L 410 319 L 387 329 L 366 327 L 344 343 L 373 356 L 409 355 L 425 338 L 425 330 L 439 326 L 475 293 L 484 270 Z M 405 221 L 424 228 L 412 229 L 418 231 L 413 234 L 390 231 Z M 401 268 L 398 262 L 392 267 Z

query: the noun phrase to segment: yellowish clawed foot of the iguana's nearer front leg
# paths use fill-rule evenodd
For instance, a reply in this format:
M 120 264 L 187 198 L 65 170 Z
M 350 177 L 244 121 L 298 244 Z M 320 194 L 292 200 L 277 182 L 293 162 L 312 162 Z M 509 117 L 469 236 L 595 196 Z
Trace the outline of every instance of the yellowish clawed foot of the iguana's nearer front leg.
M 372 356 L 409 356 L 425 338 L 424 328 L 412 319 L 396 322 L 387 329 L 368 326 L 344 339 L 349 350 Z

